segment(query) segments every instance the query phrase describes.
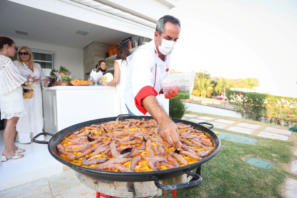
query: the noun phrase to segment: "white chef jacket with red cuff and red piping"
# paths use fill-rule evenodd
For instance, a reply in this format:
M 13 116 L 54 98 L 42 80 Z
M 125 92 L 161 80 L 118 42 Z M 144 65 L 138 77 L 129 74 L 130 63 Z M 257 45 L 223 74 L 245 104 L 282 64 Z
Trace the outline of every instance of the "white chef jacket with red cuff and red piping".
M 129 110 L 135 115 L 148 115 L 141 100 L 149 95 L 163 93 L 161 81 L 167 76 L 170 55 L 165 61 L 158 57 L 155 42 L 150 41 L 127 57 L 127 73 L 124 100 Z

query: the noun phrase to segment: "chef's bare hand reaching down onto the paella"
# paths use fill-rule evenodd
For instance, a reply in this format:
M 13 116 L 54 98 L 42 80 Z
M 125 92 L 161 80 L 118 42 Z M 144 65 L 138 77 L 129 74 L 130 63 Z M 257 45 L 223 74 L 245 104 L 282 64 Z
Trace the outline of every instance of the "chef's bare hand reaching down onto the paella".
M 159 135 L 168 144 L 180 150 L 182 143 L 179 141 L 179 129 L 176 124 L 169 119 L 167 122 L 162 122 L 159 126 Z

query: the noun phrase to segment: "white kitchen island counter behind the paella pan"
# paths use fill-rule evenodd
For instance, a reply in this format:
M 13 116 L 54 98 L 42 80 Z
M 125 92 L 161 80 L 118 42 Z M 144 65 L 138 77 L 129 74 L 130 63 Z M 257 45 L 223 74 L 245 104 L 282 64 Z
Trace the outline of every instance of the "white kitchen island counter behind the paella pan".
M 114 86 L 54 86 L 42 90 L 45 132 L 57 133 L 64 128 L 89 120 L 115 117 Z M 169 112 L 169 99 L 157 100 Z

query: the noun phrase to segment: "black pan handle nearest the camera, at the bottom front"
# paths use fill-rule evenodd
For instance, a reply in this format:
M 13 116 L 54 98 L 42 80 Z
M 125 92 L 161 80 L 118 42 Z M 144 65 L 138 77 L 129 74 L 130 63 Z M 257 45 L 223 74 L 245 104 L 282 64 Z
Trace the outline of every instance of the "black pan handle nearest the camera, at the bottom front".
M 152 178 L 154 179 L 155 185 L 157 186 L 157 188 L 160 188 L 162 190 L 168 190 L 168 191 L 197 186 L 202 182 L 202 177 L 199 174 L 193 173 L 188 170 L 184 170 L 184 173 L 192 177 L 195 177 L 197 180 L 194 180 L 192 182 L 180 183 L 176 185 L 164 185 L 159 183 L 159 178 L 156 175 L 153 175 Z

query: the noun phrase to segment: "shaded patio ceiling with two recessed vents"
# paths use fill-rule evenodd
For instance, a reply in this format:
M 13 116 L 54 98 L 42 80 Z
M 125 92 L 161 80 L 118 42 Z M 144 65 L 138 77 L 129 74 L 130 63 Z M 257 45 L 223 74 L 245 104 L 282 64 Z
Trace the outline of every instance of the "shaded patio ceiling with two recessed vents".
M 18 39 L 84 48 L 93 41 L 117 44 L 133 35 L 80 20 L 38 10 L 10 1 L 0 1 L 0 35 Z M 28 35 L 15 33 L 28 32 Z M 86 36 L 75 34 L 89 32 Z

